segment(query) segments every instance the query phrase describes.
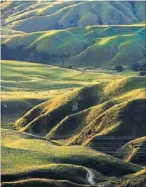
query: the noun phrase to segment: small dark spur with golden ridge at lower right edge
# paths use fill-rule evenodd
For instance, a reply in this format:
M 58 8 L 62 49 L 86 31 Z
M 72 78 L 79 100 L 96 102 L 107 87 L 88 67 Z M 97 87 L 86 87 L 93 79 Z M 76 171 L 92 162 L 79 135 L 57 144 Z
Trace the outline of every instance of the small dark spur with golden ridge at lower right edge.
M 115 156 L 126 161 L 138 164 L 146 164 L 146 136 L 130 141 L 121 147 Z

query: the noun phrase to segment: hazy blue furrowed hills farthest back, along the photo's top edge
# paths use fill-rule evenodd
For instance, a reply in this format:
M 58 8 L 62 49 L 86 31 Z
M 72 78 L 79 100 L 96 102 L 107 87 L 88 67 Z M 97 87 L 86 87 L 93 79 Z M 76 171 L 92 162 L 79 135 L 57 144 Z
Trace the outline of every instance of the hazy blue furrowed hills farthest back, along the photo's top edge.
M 144 21 L 145 2 L 2 3 L 2 24 L 25 32 L 88 25 L 127 25 Z

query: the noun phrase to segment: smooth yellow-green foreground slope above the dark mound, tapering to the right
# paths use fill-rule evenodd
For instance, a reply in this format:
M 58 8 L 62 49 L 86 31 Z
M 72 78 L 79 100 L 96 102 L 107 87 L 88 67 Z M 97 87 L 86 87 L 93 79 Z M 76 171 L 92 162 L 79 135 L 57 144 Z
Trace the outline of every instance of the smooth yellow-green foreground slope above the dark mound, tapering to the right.
M 97 172 L 111 176 L 124 175 L 141 169 L 137 165 L 125 163 L 88 147 L 56 146 L 50 141 L 39 140 L 27 134 L 2 129 L 3 174 L 59 167 L 59 165 L 52 164 L 73 164 L 90 167 Z M 70 165 L 66 167 L 70 167 Z M 111 170 L 111 167 L 114 170 Z

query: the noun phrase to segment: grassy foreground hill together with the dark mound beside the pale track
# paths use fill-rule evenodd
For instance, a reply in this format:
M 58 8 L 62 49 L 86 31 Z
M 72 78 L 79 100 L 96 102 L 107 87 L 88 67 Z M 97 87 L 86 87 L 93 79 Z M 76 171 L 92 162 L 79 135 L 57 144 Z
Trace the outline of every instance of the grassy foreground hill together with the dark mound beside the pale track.
M 15 181 L 16 178 L 24 179 L 29 176 L 44 178 L 43 174 L 46 172 L 48 175 L 45 174 L 45 178 L 52 176 L 52 179 L 77 180 L 77 183 L 86 184 L 88 167 L 93 169 L 95 181 L 106 180 L 102 175 L 121 176 L 141 169 L 140 166 L 88 147 L 57 146 L 47 140 L 6 129 L 2 129 L 2 166 L 3 181 Z

